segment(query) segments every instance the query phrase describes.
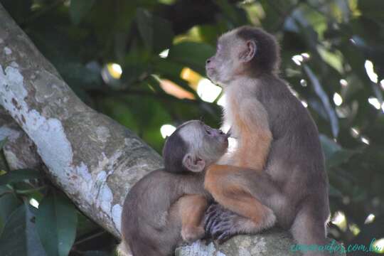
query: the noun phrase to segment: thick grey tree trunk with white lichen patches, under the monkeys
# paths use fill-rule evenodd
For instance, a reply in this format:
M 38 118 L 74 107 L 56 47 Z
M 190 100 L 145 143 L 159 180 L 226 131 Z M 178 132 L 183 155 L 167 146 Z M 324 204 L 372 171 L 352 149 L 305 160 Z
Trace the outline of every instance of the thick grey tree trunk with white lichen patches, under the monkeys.
M 43 161 L 48 176 L 76 206 L 119 238 L 125 195 L 139 178 L 162 166 L 161 156 L 82 103 L 1 5 L 0 105 L 23 129 L 0 114 L 0 138 L 11 138 L 6 147 L 11 167 Z M 290 244 L 287 233 L 269 232 L 238 236 L 220 247 L 195 242 L 177 253 L 290 255 Z

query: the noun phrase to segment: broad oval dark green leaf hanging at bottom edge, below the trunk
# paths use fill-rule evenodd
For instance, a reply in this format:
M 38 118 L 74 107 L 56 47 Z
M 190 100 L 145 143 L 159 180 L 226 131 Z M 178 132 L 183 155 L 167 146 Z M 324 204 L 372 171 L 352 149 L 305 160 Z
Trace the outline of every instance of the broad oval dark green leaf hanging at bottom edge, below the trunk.
M 76 209 L 68 198 L 54 193 L 41 201 L 36 228 L 48 255 L 68 255 L 75 241 L 77 223 Z

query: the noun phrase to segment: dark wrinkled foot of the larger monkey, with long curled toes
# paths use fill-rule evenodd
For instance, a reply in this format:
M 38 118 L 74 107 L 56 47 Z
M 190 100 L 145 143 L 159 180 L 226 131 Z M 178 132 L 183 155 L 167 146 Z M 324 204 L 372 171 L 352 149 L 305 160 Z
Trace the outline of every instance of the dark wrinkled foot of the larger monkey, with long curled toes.
M 210 205 L 204 217 L 204 228 L 207 235 L 219 244 L 229 240 L 234 235 L 238 235 L 240 215 L 223 208 L 218 203 Z

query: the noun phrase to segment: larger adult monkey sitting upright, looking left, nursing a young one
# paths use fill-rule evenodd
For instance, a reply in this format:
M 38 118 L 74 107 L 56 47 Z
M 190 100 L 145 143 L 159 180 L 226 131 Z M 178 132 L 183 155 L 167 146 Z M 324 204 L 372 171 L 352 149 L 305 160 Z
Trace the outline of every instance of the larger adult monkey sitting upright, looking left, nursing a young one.
M 277 76 L 274 37 L 250 26 L 225 33 L 206 72 L 223 87 L 224 123 L 238 138 L 238 149 L 225 156 L 226 165 L 206 171 L 205 187 L 221 205 L 208 208 L 207 233 L 223 242 L 267 228 L 275 216 L 299 244 L 325 245 L 328 178 L 319 132 Z

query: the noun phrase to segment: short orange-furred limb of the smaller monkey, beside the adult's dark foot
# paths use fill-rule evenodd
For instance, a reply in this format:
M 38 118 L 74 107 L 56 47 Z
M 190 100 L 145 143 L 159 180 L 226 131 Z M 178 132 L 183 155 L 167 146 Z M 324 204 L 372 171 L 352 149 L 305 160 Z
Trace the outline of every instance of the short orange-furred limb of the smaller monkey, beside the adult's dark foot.
M 186 195 L 178 199 L 178 212 L 181 217 L 181 237 L 186 242 L 203 238 L 203 215 L 208 202 L 201 195 Z

